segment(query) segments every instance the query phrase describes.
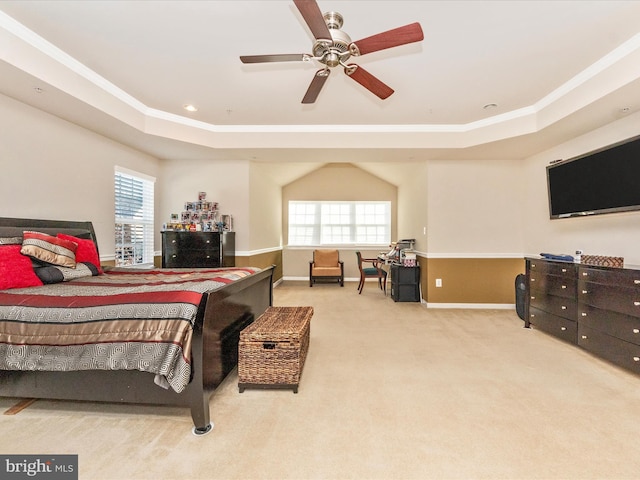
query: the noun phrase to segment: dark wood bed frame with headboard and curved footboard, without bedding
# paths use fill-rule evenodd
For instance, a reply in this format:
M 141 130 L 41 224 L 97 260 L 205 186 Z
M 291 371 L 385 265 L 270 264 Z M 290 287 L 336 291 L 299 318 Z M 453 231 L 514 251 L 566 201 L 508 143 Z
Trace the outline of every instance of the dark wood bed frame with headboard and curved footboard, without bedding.
M 23 230 L 97 239 L 91 222 L 0 218 L 0 237 Z M 211 428 L 209 399 L 238 362 L 240 331 L 273 304 L 271 266 L 215 291 L 198 309 L 192 341 L 192 379 L 181 393 L 154 384 L 153 374 L 135 370 L 42 372 L 0 370 L 0 396 L 184 406 L 196 435 Z

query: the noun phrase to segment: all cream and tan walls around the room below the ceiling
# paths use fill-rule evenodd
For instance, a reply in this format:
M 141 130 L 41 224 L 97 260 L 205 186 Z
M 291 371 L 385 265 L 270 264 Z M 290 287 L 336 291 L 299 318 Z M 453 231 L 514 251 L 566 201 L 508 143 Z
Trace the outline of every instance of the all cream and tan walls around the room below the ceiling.
M 307 278 L 311 258 L 307 249 L 280 253 L 290 199 L 390 199 L 394 212 L 397 206 L 392 239 L 416 238 L 429 303 L 508 301 L 519 259 L 541 251 L 580 248 L 640 265 L 639 212 L 552 221 L 545 177 L 551 160 L 637 135 L 638 113 L 524 161 L 404 164 L 396 169 L 402 172 L 394 176 L 397 186 L 351 164 L 329 164 L 281 188 L 271 175 L 278 169 L 269 164 L 160 161 L 2 95 L 0 111 L 0 215 L 91 220 L 105 259 L 114 252 L 112 179 L 114 166 L 120 165 L 158 179 L 158 231 L 171 213 L 204 190 L 220 203 L 222 213 L 234 216 L 237 249 L 245 257 L 239 262 L 281 262 L 289 277 Z M 155 248 L 160 249 L 159 236 Z M 357 278 L 354 249 L 340 252 L 346 277 Z M 482 292 L 487 272 L 498 281 L 483 302 L 474 292 Z M 436 277 L 443 279 L 442 289 L 431 285 Z

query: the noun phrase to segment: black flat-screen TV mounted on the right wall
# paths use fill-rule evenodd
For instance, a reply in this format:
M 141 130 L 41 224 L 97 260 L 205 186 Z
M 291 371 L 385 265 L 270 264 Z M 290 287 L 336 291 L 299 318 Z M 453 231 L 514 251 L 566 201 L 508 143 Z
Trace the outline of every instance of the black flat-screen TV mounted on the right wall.
M 640 210 L 640 136 L 547 166 L 552 219 Z

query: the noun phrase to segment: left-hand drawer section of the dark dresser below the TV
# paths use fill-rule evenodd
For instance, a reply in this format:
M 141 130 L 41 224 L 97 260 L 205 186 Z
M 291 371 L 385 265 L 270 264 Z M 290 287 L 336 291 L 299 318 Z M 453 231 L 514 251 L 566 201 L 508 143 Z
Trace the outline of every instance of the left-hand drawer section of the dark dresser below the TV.
M 575 344 L 578 335 L 576 265 L 527 258 L 526 273 L 529 301 L 525 306 L 525 326 L 531 324 Z

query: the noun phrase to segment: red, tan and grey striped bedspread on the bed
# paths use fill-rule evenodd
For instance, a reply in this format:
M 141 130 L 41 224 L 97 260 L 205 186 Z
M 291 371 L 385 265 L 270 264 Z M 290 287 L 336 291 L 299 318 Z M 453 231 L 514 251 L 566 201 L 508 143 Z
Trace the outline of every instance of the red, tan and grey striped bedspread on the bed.
M 204 292 L 258 268 L 132 270 L 0 291 L 0 370 L 140 370 L 181 392 Z

